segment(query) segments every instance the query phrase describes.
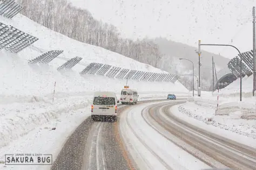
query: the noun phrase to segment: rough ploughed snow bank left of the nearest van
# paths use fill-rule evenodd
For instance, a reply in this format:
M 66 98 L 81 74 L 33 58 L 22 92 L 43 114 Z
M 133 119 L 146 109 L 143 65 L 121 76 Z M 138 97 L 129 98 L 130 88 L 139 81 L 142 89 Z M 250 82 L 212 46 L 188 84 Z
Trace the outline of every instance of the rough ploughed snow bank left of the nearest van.
M 49 101 L 0 105 L 0 148 L 22 137 L 37 126 L 58 119 L 63 113 L 86 108 L 91 101 L 76 97 L 64 98 L 51 104 Z

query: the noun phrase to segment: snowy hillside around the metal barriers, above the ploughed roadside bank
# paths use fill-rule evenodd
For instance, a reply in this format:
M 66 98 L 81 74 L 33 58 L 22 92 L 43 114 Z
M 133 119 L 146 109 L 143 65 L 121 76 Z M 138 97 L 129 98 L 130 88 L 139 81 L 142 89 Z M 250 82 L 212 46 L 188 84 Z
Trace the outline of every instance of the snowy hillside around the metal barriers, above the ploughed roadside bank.
M 119 91 L 120 88 L 123 87 L 125 81 L 105 79 L 105 77 L 101 76 L 87 76 L 85 78 L 80 76 L 79 72 L 81 72 L 90 62 L 107 63 L 122 68 L 158 73 L 163 72 L 160 69 L 126 58 L 123 55 L 107 51 L 104 48 L 84 44 L 70 39 L 62 34 L 46 29 L 44 26 L 33 22 L 23 15 L 17 15 L 12 20 L 5 18 L 0 19 L 4 24 L 15 26 L 18 29 L 39 38 L 39 40 L 33 44 L 33 47 L 25 48 L 22 52 L 18 53 L 18 55 L 2 52 L 3 57 L 1 57 L 2 61 L 0 62 L 1 72 L 5 74 L 2 74 L 3 77 L 1 77 L 1 80 L 4 80 L 4 83 L 1 84 L 1 95 L 4 96 L 48 95 L 52 93 L 55 81 L 57 88 L 56 91 L 62 91 L 65 93 L 75 93 L 88 90 L 106 90 L 111 88 L 114 91 Z M 28 65 L 27 60 L 36 58 L 38 55 L 42 54 L 42 52 L 54 49 L 64 50 L 64 52 L 60 54 L 58 58 L 51 61 L 50 67 L 47 69 L 32 68 Z M 75 56 L 83 58 L 83 60 L 80 61 L 83 65 L 78 64 L 73 67 L 75 73 L 72 73 L 72 75 L 67 77 L 57 72 L 57 67 L 66 62 L 67 59 Z M 111 86 L 111 84 L 116 84 L 116 86 Z M 161 88 L 151 87 L 149 86 L 150 83 L 138 83 L 130 80 L 129 84 L 133 88 L 138 88 L 142 91 L 165 91 L 170 89 L 170 83 L 161 83 Z M 186 91 L 179 82 L 177 82 L 177 84 L 178 86 L 173 84 L 173 90 Z

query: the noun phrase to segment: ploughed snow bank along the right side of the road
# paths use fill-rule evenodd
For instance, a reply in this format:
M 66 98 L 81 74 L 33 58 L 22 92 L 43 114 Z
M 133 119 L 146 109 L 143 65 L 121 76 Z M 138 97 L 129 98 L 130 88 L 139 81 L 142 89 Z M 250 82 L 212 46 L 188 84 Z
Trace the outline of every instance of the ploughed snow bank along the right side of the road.
M 220 101 L 212 98 L 190 97 L 185 104 L 178 106 L 178 111 L 205 124 L 232 131 L 256 139 L 255 103 L 250 101 Z

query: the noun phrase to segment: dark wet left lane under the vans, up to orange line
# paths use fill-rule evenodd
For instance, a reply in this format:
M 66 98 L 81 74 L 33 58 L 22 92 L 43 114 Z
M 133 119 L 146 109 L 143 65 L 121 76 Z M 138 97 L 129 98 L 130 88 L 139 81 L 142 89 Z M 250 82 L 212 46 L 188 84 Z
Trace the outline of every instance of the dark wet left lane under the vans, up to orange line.
M 149 100 L 140 101 L 146 103 Z M 138 105 L 137 104 L 137 105 Z M 118 116 L 132 105 L 119 105 Z M 136 169 L 120 137 L 117 122 L 93 122 L 91 117 L 78 126 L 66 140 L 51 167 L 52 170 Z

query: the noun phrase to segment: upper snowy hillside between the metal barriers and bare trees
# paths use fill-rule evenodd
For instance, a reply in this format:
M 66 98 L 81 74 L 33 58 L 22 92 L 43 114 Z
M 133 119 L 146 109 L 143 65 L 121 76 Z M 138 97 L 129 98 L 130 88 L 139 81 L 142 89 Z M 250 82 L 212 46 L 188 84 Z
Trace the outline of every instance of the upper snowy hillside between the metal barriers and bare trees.
M 35 48 L 26 48 L 19 53 L 19 56 L 23 59 L 33 59 L 42 52 L 60 49 L 64 50 L 61 55 L 62 57 L 71 59 L 75 56 L 80 56 L 83 58 L 81 62 L 85 64 L 89 64 L 90 62 L 101 62 L 122 68 L 147 70 L 159 73 L 162 72 L 150 65 L 145 65 L 144 63 L 137 62 L 136 60 L 126 58 L 123 55 L 108 51 L 102 47 L 84 44 L 80 41 L 63 36 L 62 34 L 47 29 L 46 27 L 39 25 L 20 14 L 15 16 L 12 20 L 0 16 L 0 22 L 6 25 L 12 25 L 23 32 L 39 38 L 39 40 L 33 44 L 33 46 L 39 48 L 38 50 L 34 50 Z M 57 59 L 53 60 L 51 63 L 52 65 L 58 64 L 59 66 L 64 62 L 65 60 Z M 79 70 L 82 71 L 83 68 L 85 67 L 83 66 L 82 69 Z

